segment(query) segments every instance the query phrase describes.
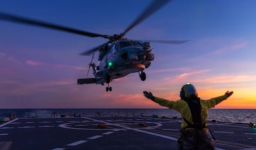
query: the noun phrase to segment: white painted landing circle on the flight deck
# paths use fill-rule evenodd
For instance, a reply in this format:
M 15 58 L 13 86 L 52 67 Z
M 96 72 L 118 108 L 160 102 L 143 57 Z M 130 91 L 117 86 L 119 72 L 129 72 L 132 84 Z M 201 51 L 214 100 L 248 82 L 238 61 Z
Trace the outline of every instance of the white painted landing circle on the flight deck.
M 133 130 L 133 129 L 151 129 L 151 128 L 156 128 L 156 127 L 161 127 L 162 124 L 160 123 L 157 123 L 157 122 L 142 122 L 142 121 L 116 121 L 116 120 L 113 120 L 114 122 L 141 122 L 141 123 L 152 123 L 152 124 L 157 124 L 156 126 L 153 126 L 153 127 L 138 127 L 138 128 L 132 128 L 132 129 L 127 129 L 125 128 L 117 128 L 117 129 L 88 129 L 88 128 L 76 128 L 76 127 L 67 127 L 66 125 L 70 125 L 70 124 L 74 124 L 74 123 L 81 123 L 81 122 L 71 122 L 71 123 L 65 123 L 65 124 L 61 124 L 61 125 L 58 125 L 58 127 L 63 127 L 63 128 L 66 128 L 66 129 L 76 129 L 76 130 Z M 95 121 L 90 121 L 90 122 L 95 122 Z M 105 124 L 105 123 L 102 123 L 102 124 Z M 109 123 L 111 124 L 111 123 Z M 114 123 L 113 123 L 113 126 L 116 126 Z M 122 126 L 122 125 L 118 125 L 119 127 Z

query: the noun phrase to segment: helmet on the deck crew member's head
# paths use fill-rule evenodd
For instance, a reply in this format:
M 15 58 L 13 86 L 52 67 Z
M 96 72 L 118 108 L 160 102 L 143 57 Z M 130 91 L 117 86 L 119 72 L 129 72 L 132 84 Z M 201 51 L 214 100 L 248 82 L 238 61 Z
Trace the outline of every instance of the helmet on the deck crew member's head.
M 183 85 L 180 91 L 180 98 L 191 98 L 191 97 L 197 97 L 198 93 L 195 89 L 194 85 L 191 85 L 190 83 L 187 83 L 186 85 Z

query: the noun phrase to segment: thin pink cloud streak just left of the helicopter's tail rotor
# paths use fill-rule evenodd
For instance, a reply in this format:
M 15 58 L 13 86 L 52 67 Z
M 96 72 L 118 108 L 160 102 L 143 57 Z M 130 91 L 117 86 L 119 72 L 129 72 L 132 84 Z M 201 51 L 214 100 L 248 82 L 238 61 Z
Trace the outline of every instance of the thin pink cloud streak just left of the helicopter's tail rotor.
M 69 69 L 77 69 L 77 70 L 85 70 L 88 68 L 80 67 L 80 66 L 72 66 L 72 65 L 63 65 L 63 64 L 50 64 L 50 63 L 45 63 L 45 62 L 35 62 L 32 60 L 27 60 L 26 61 L 27 65 L 33 65 L 33 66 L 52 66 L 56 68 L 69 68 Z

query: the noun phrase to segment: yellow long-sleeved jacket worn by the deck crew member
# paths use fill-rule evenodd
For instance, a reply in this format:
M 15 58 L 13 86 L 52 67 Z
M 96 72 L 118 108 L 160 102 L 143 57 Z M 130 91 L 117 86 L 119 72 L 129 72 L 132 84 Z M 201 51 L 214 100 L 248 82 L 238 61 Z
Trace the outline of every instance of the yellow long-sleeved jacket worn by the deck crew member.
M 215 105 L 224 101 L 225 99 L 227 99 L 227 97 L 228 96 L 225 94 L 224 96 L 219 96 L 219 97 L 212 98 L 209 100 L 200 99 L 200 103 L 202 106 L 201 118 L 203 119 L 203 122 L 205 122 L 208 117 L 208 110 L 210 108 L 214 108 Z M 162 98 L 155 96 L 154 102 L 158 103 L 161 106 L 168 107 L 169 109 L 174 109 L 174 110 L 178 111 L 180 113 L 180 115 L 182 117 L 184 117 L 188 122 L 190 122 L 191 124 L 194 123 L 192 120 L 192 114 L 189 109 L 189 105 L 184 100 L 180 99 L 177 101 L 169 101 L 167 99 L 162 99 Z M 206 125 L 207 125 L 207 123 L 206 123 Z M 188 124 L 182 118 L 181 128 L 184 128 L 187 126 L 188 126 Z M 189 128 L 187 128 L 187 129 L 189 129 Z

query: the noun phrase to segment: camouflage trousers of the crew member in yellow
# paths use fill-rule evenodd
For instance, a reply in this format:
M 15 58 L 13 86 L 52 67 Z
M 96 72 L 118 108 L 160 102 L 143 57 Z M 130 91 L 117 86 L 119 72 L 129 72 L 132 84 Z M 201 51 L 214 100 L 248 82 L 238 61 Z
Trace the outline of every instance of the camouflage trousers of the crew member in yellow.
M 206 130 L 206 129 L 204 129 Z M 207 129 L 208 131 L 208 129 Z M 181 129 L 177 150 L 216 150 L 208 132 Z

